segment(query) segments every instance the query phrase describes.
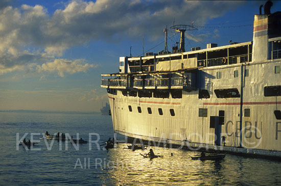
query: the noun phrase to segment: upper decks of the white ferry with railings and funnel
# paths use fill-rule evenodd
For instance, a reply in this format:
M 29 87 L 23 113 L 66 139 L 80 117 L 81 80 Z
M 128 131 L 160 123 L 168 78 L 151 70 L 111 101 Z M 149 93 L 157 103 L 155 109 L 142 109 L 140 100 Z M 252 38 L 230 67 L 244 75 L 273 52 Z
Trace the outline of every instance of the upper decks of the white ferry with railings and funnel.
M 101 87 L 113 89 L 196 89 L 198 69 L 260 63 L 281 58 L 281 12 L 255 15 L 253 41 L 147 56 L 120 57 L 119 72 L 102 74 Z M 214 47 L 215 46 L 215 47 Z M 166 52 L 167 53 L 167 52 Z

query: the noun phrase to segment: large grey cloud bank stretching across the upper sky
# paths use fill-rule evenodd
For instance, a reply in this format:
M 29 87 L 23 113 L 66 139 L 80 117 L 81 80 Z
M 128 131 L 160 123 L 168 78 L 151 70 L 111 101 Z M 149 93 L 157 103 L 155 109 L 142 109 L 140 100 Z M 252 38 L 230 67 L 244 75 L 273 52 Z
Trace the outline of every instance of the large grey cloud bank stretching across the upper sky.
M 79 60 L 57 59 L 73 46 L 124 38 L 150 40 L 162 37 L 167 24 L 203 25 L 244 2 L 186 0 L 97 0 L 70 1 L 53 14 L 40 5 L 8 6 L 0 3 L 0 73 L 28 69 L 37 63 L 38 71 L 85 72 L 95 65 Z M 51 62 L 50 62 L 51 61 Z M 53 61 L 53 62 L 52 62 Z M 56 66 L 58 65 L 58 66 Z

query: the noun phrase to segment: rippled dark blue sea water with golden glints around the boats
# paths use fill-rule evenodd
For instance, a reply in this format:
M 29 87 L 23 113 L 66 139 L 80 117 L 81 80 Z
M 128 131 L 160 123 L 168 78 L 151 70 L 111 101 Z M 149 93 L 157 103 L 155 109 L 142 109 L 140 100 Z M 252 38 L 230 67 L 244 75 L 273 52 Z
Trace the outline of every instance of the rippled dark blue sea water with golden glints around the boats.
M 281 162 L 226 154 L 220 161 L 192 161 L 199 152 L 151 147 L 163 157 L 144 158 L 124 143 L 115 149 L 98 149 L 97 144 L 59 143 L 39 138 L 67 132 L 76 139 L 98 140 L 104 144 L 113 137 L 110 116 L 98 114 L 1 113 L 0 112 L 0 185 L 89 184 L 89 185 L 277 185 L 281 184 Z M 34 149 L 17 146 L 20 139 L 33 138 Z M 118 136 L 118 138 L 123 138 Z M 67 145 L 67 148 L 66 148 Z M 50 149 L 51 147 L 51 149 Z M 173 153 L 173 156 L 171 156 Z

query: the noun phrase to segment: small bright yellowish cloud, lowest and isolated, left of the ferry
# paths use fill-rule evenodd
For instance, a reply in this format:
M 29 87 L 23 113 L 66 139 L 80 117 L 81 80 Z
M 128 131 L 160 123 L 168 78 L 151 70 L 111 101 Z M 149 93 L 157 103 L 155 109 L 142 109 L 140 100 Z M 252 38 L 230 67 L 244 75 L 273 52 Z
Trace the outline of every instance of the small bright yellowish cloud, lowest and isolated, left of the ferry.
M 64 77 L 64 73 L 86 72 L 89 68 L 97 67 L 97 65 L 83 63 L 81 60 L 68 61 L 64 59 L 55 59 L 54 62 L 37 65 L 38 72 L 56 72 L 59 76 Z

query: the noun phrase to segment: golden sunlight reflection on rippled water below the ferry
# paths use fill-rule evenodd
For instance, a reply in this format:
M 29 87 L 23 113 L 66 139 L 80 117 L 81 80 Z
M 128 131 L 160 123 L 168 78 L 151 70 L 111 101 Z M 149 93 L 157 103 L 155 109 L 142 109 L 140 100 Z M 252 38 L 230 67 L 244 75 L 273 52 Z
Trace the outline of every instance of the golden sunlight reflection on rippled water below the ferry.
M 157 155 L 163 157 L 144 158 L 139 153 L 149 150 L 111 149 L 107 152 L 107 161 L 114 162 L 112 167 L 106 168 L 101 175 L 103 184 L 268 184 L 271 180 L 276 183 L 275 166 L 280 173 L 280 163 L 260 159 L 245 158 L 226 154 L 223 160 L 191 160 L 190 155 L 199 154 L 185 150 L 153 148 Z M 173 156 L 171 156 L 173 153 Z M 259 162 L 263 162 L 265 169 L 261 169 Z M 266 162 L 266 164 L 265 164 Z M 257 166 L 259 164 L 259 166 Z M 264 171 L 267 171 L 264 173 Z M 256 176 L 258 179 L 255 179 Z M 277 176 L 278 177 L 278 176 Z M 275 178 L 275 179 L 274 179 Z M 279 177 L 280 178 L 280 177 Z M 261 180 L 262 179 L 262 180 Z M 269 182 L 268 182 L 269 181 Z

